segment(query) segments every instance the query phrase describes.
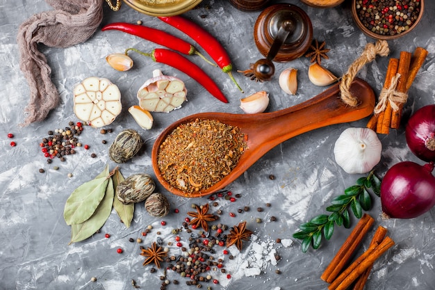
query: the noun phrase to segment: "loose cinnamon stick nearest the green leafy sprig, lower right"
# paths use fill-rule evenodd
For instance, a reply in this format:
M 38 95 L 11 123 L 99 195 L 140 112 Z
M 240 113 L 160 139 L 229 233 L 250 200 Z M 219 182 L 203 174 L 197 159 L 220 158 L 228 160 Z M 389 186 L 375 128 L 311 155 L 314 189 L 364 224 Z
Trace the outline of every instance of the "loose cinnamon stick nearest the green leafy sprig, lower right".
M 322 280 L 331 283 L 336 279 L 352 255 L 354 255 L 356 248 L 363 240 L 363 237 L 366 236 L 368 230 L 374 222 L 375 220 L 371 216 L 368 214 L 363 214 L 350 235 L 347 236 L 347 239 L 343 245 L 341 245 L 334 258 L 320 276 Z

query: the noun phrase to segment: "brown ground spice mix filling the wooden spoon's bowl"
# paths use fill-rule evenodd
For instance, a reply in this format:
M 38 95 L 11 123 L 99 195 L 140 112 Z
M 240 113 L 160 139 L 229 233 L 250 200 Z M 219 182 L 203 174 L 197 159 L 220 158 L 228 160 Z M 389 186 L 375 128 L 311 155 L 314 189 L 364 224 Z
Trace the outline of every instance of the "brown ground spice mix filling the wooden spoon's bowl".
M 158 168 L 168 184 L 194 193 L 227 176 L 246 149 L 245 134 L 238 127 L 196 119 L 181 124 L 163 141 Z

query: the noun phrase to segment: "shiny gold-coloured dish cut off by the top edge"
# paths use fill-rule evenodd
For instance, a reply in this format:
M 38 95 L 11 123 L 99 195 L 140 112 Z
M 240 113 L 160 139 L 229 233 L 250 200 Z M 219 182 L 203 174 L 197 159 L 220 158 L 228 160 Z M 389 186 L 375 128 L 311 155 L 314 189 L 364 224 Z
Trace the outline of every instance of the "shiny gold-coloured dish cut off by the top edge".
M 195 8 L 201 1 L 202 0 L 124 0 L 124 2 L 134 10 L 151 16 L 179 15 Z

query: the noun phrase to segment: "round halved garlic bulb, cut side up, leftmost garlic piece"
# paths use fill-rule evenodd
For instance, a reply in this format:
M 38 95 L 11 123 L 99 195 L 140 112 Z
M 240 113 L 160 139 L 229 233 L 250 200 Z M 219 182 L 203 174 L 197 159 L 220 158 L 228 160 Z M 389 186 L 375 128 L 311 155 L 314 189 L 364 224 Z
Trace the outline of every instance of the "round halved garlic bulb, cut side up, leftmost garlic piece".
M 74 88 L 74 113 L 99 128 L 111 124 L 122 110 L 121 92 L 108 79 L 91 76 Z

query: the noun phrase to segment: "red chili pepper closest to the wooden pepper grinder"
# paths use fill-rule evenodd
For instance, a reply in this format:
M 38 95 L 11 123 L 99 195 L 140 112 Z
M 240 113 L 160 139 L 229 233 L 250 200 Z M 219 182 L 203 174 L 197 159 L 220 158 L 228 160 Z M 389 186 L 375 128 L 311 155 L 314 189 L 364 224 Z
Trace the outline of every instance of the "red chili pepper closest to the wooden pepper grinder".
M 243 92 L 242 88 L 240 88 L 236 82 L 236 79 L 234 79 L 233 74 L 231 74 L 233 65 L 231 65 L 231 60 L 227 54 L 227 51 L 220 44 L 220 42 L 213 37 L 213 35 L 211 35 L 208 31 L 203 29 L 195 22 L 192 22 L 189 19 L 179 15 L 158 17 L 158 19 L 161 19 L 161 21 L 170 24 L 176 29 L 179 29 L 179 31 L 189 35 L 192 40 L 195 40 L 200 47 L 207 51 L 208 55 L 213 58 L 217 65 L 219 65 L 219 67 L 222 69 L 222 72 L 227 73 L 231 80 L 236 83 L 238 89 Z

